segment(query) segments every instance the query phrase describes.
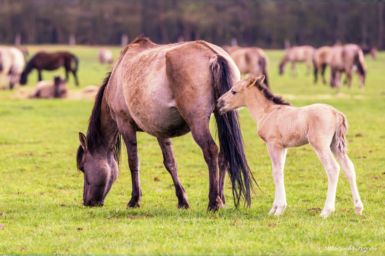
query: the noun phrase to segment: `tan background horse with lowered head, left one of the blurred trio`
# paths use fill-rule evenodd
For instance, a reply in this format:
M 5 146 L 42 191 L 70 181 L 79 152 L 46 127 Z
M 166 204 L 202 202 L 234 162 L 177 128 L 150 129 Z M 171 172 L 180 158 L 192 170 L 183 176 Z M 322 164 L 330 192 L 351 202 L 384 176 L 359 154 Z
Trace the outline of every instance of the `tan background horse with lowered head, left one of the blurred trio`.
M 291 62 L 291 71 L 293 76 L 298 75 L 298 69 L 295 66 L 296 62 L 306 62 L 306 74 L 310 74 L 311 62 L 313 61 L 313 53 L 315 48 L 313 46 L 293 46 L 286 50 L 286 55 L 280 63 L 280 75 L 283 74 L 286 62 Z

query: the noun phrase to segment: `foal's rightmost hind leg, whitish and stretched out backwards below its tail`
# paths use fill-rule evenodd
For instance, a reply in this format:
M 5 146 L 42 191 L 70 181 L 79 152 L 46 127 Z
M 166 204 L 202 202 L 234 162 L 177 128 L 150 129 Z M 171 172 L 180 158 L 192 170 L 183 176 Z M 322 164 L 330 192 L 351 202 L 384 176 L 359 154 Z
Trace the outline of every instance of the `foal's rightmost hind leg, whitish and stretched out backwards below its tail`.
M 334 146 L 333 144 L 334 143 L 332 143 L 330 146 L 331 152 L 333 152 L 333 154 L 337 157 L 338 162 L 340 162 L 343 173 L 345 173 L 346 178 L 348 178 L 350 188 L 352 189 L 354 210 L 357 214 L 361 214 L 363 210 L 363 204 L 357 190 L 356 172 L 354 170 L 354 165 L 352 161 L 350 161 L 348 155 L 346 155 L 346 153 L 341 153 L 340 150 L 338 150 L 338 147 Z

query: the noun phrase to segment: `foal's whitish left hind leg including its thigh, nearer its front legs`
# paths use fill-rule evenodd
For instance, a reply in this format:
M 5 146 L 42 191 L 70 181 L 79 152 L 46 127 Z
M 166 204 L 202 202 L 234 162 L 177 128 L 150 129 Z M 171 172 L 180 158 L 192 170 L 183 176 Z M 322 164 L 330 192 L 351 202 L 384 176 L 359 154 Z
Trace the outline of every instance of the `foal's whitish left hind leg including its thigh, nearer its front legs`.
M 325 127 L 329 130 L 330 127 Z M 325 167 L 326 175 L 328 175 L 328 193 L 326 194 L 325 206 L 320 214 L 321 217 L 326 218 L 335 210 L 335 198 L 338 182 L 338 175 L 340 173 L 340 165 L 338 165 L 330 150 L 331 139 L 333 135 L 328 136 L 326 132 L 312 132 L 309 130 L 309 143 L 317 153 L 321 160 L 323 167 Z

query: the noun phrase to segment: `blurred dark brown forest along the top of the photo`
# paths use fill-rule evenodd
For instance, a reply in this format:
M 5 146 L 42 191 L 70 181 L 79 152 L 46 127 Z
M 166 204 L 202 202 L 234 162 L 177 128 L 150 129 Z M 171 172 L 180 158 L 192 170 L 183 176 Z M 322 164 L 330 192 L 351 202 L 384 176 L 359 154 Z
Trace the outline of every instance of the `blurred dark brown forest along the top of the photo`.
M 0 0 L 1 44 L 120 45 L 144 33 L 160 44 L 283 48 L 342 43 L 383 49 L 384 3 Z M 126 38 L 127 38 L 126 37 Z

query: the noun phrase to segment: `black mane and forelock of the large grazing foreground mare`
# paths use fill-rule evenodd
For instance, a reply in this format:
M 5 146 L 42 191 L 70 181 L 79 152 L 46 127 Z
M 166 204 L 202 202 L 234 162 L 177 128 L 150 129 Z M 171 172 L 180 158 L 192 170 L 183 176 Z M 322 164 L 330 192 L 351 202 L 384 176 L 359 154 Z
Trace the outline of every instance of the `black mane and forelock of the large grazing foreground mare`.
M 92 108 L 91 116 L 89 119 L 89 125 L 87 130 L 87 142 L 88 142 L 88 150 L 89 152 L 94 151 L 94 143 L 100 139 L 100 111 L 102 108 L 102 99 L 104 94 L 104 89 L 108 84 L 108 81 L 110 79 L 111 72 L 107 73 L 107 77 L 104 78 L 102 85 L 100 86 L 97 95 L 95 97 L 95 104 Z M 102 140 L 102 143 L 105 144 L 105 142 Z M 120 158 L 121 158 L 121 134 L 119 133 L 117 136 L 117 140 L 114 146 L 114 158 L 117 164 L 119 165 Z M 77 150 L 76 154 L 76 165 L 79 169 L 80 161 L 82 160 L 84 154 L 83 147 L 80 145 L 79 149 Z

